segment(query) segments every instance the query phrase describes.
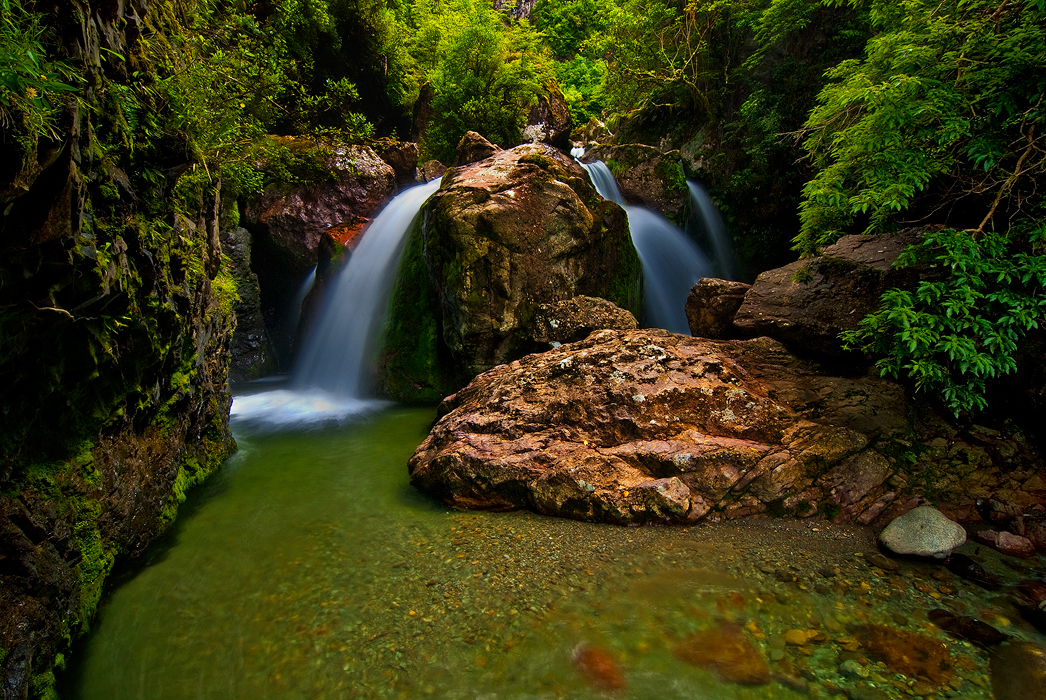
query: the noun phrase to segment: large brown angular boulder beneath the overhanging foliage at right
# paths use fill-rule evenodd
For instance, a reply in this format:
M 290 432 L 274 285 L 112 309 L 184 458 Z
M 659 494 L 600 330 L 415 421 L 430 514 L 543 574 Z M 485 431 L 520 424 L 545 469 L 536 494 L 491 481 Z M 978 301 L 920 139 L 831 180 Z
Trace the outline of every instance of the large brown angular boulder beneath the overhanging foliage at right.
M 886 290 L 915 283 L 916 272 L 892 265 L 917 236 L 847 235 L 817 257 L 768 270 L 745 294 L 734 325 L 744 337 L 770 336 L 796 351 L 838 356 L 841 331 L 876 311 Z

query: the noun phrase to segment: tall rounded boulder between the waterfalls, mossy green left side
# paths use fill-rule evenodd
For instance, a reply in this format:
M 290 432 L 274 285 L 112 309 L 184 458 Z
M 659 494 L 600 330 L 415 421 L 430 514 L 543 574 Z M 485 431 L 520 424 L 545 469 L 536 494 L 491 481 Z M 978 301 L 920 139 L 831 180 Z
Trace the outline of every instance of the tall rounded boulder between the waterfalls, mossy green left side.
M 555 149 L 524 144 L 455 167 L 407 242 L 385 389 L 438 401 L 529 352 L 527 330 L 543 303 L 587 295 L 637 309 L 640 274 L 624 211 Z M 451 377 L 435 376 L 448 367 Z

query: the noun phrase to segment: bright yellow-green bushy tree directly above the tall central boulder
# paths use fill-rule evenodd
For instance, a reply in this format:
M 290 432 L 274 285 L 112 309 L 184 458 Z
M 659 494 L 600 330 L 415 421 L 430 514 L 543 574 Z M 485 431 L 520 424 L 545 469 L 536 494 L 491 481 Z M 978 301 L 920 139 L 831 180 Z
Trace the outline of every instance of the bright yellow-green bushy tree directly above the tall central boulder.
M 486 0 L 418 0 L 412 12 L 416 75 L 433 95 L 423 158 L 453 161 L 467 131 L 519 143 L 528 108 L 552 77 L 541 37 L 526 20 L 507 23 Z

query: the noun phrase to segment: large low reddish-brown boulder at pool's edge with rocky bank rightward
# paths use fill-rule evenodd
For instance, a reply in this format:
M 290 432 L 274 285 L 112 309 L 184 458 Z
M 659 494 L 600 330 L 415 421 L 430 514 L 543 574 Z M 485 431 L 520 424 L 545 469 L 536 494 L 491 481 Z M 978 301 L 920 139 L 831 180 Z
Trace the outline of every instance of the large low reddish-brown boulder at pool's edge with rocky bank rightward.
M 769 338 L 600 331 L 488 370 L 440 412 L 411 482 L 455 506 L 868 524 L 929 497 L 963 520 L 988 493 L 1046 502 L 1042 465 L 1014 437 L 960 433 L 923 407 L 913 424 L 899 385 L 832 376 Z M 929 449 L 911 451 L 913 435 Z

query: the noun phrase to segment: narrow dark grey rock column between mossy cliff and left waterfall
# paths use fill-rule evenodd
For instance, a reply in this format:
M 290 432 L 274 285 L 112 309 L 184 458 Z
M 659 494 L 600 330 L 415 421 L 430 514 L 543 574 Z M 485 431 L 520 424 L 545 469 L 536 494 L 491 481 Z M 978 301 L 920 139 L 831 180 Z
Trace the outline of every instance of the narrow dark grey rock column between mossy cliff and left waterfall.
M 275 372 L 269 348 L 265 319 L 262 317 L 262 290 L 258 276 L 251 270 L 251 233 L 234 228 L 222 233 L 222 252 L 232 261 L 240 300 L 233 306 L 236 332 L 232 335 L 229 379 L 250 381 Z

